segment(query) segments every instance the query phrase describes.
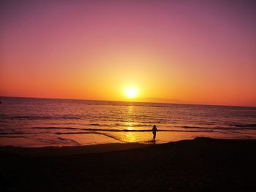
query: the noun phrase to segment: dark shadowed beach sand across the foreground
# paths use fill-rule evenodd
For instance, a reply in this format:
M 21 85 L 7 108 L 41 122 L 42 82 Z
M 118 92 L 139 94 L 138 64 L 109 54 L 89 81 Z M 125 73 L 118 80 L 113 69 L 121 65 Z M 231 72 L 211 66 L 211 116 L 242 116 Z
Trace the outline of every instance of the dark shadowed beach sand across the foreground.
M 256 191 L 256 140 L 0 147 L 0 155 L 0 191 Z

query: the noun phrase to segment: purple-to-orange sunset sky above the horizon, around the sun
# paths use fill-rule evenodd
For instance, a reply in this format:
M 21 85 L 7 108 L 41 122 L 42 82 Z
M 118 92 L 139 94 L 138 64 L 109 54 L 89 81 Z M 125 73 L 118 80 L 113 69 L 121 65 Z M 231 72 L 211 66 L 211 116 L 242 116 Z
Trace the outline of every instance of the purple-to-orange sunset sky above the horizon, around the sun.
M 0 96 L 256 107 L 254 1 L 1 1 Z

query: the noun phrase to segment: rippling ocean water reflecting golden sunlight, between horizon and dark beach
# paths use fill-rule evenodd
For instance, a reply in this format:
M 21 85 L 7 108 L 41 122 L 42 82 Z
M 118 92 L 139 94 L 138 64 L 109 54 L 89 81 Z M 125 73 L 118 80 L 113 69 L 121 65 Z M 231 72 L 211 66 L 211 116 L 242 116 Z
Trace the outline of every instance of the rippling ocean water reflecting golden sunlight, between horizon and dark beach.
M 256 107 L 0 97 L 0 145 L 256 138 Z

